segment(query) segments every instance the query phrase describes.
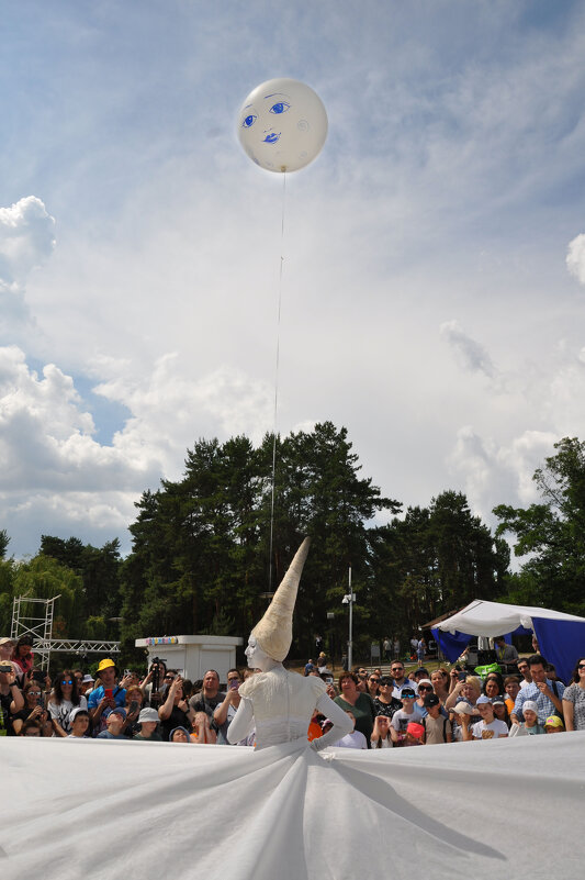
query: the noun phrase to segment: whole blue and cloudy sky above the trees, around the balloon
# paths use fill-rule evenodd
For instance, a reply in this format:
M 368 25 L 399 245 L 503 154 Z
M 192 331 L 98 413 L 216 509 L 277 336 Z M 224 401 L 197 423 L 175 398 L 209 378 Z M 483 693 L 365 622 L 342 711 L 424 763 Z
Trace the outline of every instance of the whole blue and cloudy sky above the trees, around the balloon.
M 23 2 L 0 56 L 0 527 L 119 536 L 200 437 L 272 428 L 282 180 L 236 116 L 327 109 L 286 180 L 279 428 L 488 519 L 585 436 L 578 2 Z M 584 237 L 580 237 L 584 236 Z

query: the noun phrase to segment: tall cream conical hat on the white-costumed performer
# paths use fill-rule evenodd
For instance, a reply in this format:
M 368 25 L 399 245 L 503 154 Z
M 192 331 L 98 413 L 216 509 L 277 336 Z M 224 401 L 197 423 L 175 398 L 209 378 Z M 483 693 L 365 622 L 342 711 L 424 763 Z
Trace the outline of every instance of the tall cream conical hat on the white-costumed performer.
M 251 631 L 251 635 L 265 654 L 280 662 L 286 657 L 291 647 L 292 615 L 296 601 L 296 591 L 310 545 L 311 538 L 306 537 L 296 550 L 294 559 L 265 612 L 265 616 Z

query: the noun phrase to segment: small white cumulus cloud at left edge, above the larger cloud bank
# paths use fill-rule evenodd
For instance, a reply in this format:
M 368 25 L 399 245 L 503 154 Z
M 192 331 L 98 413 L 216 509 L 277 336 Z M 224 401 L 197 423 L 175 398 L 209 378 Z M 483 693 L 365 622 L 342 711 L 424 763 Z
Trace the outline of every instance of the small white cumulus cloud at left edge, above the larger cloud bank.
M 7 288 L 21 285 L 54 247 L 55 219 L 36 196 L 0 208 L 0 282 Z

